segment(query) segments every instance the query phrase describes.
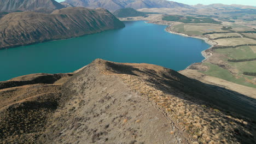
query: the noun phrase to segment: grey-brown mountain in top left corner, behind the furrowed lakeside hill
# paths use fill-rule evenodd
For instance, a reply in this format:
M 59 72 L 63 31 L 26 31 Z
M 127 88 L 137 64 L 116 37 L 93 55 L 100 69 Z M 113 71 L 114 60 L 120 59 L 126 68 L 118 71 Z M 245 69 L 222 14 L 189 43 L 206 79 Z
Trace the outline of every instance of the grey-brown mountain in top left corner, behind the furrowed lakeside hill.
M 53 10 L 64 8 L 54 0 L 0 0 L 0 11 L 40 11 L 50 13 Z

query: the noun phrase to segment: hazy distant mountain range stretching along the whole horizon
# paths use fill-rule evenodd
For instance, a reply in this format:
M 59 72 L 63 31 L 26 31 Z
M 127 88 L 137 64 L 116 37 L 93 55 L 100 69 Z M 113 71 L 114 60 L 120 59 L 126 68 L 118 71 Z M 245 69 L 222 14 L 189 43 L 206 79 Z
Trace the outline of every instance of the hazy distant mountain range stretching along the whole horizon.
M 115 11 L 123 8 L 133 9 L 150 9 L 150 8 L 170 8 L 183 11 L 196 11 L 205 9 L 206 11 L 214 10 L 231 10 L 231 9 L 256 9 L 248 5 L 187 5 L 167 0 L 66 0 L 58 3 L 55 0 L 0 0 L 0 12 L 14 11 L 38 11 L 42 13 L 51 13 L 56 9 L 65 7 L 87 7 L 87 8 L 105 8 Z

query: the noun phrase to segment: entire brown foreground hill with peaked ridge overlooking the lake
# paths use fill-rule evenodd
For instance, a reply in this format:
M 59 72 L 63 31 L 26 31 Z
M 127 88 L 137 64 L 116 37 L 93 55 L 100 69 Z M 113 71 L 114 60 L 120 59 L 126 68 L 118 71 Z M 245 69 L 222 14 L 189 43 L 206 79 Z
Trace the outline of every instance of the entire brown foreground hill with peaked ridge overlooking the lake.
M 256 141 L 256 102 L 245 95 L 152 64 L 96 59 L 73 74 L 34 74 L 1 82 L 27 81 L 0 89 L 1 141 Z M 53 80 L 41 82 L 42 76 Z

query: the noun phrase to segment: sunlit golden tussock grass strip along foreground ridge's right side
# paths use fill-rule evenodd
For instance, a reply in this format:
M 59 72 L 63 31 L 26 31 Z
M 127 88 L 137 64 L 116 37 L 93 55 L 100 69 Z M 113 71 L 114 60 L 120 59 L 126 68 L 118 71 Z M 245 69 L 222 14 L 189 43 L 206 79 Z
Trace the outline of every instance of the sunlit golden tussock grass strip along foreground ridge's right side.
M 136 67 L 136 64 L 134 66 Z M 161 67 L 159 68 L 161 69 Z M 160 70 L 158 69 L 158 71 Z M 102 73 L 113 74 L 111 70 Z M 117 73 L 114 75 L 121 77 L 139 95 L 156 103 L 168 117 L 178 123 L 178 127 L 190 135 L 194 140 L 193 143 L 239 143 L 237 136 L 252 137 L 253 135 L 248 130 L 248 125 L 244 124 L 248 123 L 247 121 L 227 115 L 210 106 L 194 103 L 193 100 L 183 99 L 190 97 L 187 94 L 181 92 L 169 94 L 160 91 L 157 88 L 158 84 L 149 82 L 148 79 L 157 81 L 153 77 L 147 77 L 143 73 L 136 73 L 138 76 Z M 178 79 L 174 75 L 173 77 Z M 198 102 L 196 99 L 195 101 Z M 174 134 L 174 131 L 171 131 L 170 134 Z

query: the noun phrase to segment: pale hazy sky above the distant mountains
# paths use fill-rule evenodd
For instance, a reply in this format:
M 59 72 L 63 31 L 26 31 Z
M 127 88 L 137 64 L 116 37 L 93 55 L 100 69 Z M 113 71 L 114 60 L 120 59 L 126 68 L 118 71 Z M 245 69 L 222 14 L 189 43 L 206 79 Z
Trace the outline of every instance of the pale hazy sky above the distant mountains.
M 63 2 L 64 0 L 56 0 L 57 2 Z M 243 4 L 243 5 L 253 5 L 256 6 L 255 0 L 172 0 L 174 2 L 184 3 L 184 4 L 212 4 L 212 3 L 222 3 L 222 4 Z

